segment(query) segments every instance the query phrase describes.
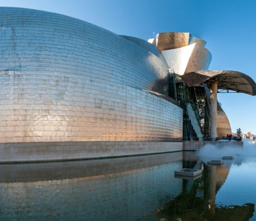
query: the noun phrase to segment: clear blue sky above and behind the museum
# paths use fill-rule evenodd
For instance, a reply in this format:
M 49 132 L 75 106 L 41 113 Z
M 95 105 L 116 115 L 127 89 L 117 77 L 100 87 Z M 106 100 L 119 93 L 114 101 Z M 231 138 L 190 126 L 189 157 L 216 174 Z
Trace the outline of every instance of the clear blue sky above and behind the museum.
M 117 34 L 190 32 L 207 41 L 211 70 L 237 70 L 256 81 L 255 0 L 0 0 L 0 6 L 52 11 Z M 218 94 L 232 131 L 256 134 L 256 96 Z

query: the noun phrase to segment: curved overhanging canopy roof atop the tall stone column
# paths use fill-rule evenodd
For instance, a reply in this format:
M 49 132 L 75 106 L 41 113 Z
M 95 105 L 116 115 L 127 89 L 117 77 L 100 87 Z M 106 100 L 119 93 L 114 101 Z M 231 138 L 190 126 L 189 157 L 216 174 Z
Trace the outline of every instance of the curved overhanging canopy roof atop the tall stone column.
M 254 80 L 238 71 L 229 70 L 200 70 L 182 75 L 188 87 L 197 84 L 210 84 L 218 82 L 218 89 L 233 90 L 240 93 L 256 95 L 256 83 Z

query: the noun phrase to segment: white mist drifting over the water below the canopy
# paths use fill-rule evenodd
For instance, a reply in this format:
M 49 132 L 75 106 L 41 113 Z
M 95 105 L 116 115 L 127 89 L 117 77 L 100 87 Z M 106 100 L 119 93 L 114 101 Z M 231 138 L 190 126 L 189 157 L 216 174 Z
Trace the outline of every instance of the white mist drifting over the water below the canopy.
M 232 141 L 231 141 L 232 142 Z M 206 144 L 196 153 L 200 160 L 204 163 L 211 160 L 222 160 L 223 156 L 233 156 L 232 160 L 223 160 L 226 164 L 228 162 L 241 163 L 245 161 L 256 161 L 256 144 L 249 143 L 250 140 L 244 140 L 244 146 L 232 145 L 229 142 L 223 144 Z

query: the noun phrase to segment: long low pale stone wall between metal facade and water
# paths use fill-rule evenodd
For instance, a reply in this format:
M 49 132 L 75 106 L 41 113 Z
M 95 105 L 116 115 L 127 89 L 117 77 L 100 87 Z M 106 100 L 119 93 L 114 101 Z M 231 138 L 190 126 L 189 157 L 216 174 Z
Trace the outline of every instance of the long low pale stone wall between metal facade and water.
M 182 151 L 182 142 L 37 142 L 0 144 L 0 163 L 92 159 Z

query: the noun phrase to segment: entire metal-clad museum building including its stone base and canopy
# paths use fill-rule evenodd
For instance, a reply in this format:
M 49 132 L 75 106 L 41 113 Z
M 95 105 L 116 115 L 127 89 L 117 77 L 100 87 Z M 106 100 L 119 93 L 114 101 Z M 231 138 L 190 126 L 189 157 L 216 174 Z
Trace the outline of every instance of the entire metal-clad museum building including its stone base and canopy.
M 0 161 L 180 151 L 231 133 L 218 92 L 256 94 L 249 76 L 208 70 L 190 33 L 145 41 L 23 8 L 0 18 Z

